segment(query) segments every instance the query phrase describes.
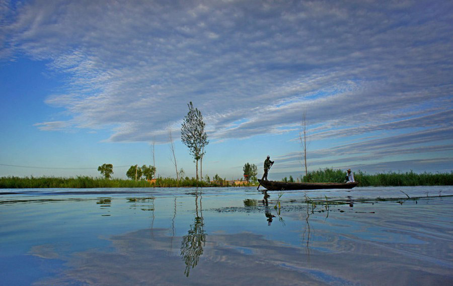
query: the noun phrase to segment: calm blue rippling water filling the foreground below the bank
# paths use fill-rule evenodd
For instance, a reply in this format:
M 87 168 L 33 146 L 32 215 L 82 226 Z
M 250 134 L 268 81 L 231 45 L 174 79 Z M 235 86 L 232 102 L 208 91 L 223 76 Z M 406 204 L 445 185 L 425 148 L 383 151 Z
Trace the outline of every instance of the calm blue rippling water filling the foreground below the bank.
M 453 186 L 0 192 L 0 285 L 453 284 Z

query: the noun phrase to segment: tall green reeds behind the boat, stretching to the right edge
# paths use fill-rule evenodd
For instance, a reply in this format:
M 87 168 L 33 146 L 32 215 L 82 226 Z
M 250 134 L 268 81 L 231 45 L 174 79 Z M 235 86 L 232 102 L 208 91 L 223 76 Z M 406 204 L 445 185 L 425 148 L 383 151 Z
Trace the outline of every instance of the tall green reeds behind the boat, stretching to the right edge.
M 303 176 L 303 182 L 343 182 L 346 172 L 340 169 L 316 170 Z M 388 172 L 367 174 L 358 170 L 354 179 L 359 186 L 414 186 L 414 185 L 453 185 L 453 172 L 449 173 L 415 173 Z

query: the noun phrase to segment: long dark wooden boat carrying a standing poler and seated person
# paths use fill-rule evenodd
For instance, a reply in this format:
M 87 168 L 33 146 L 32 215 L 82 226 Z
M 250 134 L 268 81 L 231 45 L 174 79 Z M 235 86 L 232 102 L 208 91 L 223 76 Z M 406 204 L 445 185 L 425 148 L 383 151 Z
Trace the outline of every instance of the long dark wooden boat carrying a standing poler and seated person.
M 326 189 L 326 188 L 353 188 L 358 182 L 350 183 L 298 183 L 266 181 L 258 179 L 258 182 L 267 190 L 295 190 L 295 189 Z

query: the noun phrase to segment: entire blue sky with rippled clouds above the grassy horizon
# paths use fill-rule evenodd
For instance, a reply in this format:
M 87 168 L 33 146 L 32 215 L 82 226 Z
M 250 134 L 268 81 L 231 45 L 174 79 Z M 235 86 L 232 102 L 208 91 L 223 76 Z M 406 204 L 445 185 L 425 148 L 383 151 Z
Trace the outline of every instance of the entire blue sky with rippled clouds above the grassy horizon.
M 0 0 L 0 176 L 453 170 L 451 1 Z M 154 150 L 154 152 L 153 152 Z M 154 154 L 154 156 L 153 156 Z

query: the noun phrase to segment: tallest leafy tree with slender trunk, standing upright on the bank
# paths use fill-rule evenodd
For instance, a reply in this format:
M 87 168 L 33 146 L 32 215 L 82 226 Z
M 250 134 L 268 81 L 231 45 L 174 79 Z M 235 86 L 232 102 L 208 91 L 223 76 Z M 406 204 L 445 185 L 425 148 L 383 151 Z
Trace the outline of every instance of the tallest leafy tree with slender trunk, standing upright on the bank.
M 188 105 L 189 112 L 184 117 L 181 127 L 181 141 L 189 148 L 190 154 L 196 162 L 196 179 L 198 180 L 198 160 L 202 159 L 204 147 L 209 143 L 204 131 L 204 122 L 201 112 L 193 107 L 192 102 Z

